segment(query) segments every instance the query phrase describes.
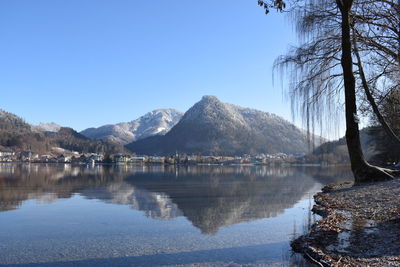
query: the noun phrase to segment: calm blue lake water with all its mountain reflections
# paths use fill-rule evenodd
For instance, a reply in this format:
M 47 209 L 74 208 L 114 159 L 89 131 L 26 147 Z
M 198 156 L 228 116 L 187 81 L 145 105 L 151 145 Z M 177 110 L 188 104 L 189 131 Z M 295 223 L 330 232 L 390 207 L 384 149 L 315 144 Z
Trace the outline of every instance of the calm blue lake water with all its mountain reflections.
M 303 266 L 289 242 L 347 170 L 0 164 L 0 266 Z

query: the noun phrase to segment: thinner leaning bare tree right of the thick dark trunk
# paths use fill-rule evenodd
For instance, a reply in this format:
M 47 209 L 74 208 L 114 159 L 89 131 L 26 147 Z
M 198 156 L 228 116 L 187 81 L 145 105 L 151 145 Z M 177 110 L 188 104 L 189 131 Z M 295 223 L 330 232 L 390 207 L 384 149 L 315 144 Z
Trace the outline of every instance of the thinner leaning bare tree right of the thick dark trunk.
M 353 50 L 361 87 L 392 145 L 400 148 L 400 138 L 385 120 L 374 98 L 374 94 L 380 93 L 379 102 L 382 102 L 392 91 L 400 89 L 396 79 L 400 75 L 400 29 L 397 26 L 400 25 L 400 5 L 392 0 L 370 1 L 362 6 L 361 14 L 353 14 Z M 370 79 L 361 61 L 362 51 L 364 62 L 370 62 L 366 64 Z M 382 80 L 388 81 L 390 86 L 385 86 Z

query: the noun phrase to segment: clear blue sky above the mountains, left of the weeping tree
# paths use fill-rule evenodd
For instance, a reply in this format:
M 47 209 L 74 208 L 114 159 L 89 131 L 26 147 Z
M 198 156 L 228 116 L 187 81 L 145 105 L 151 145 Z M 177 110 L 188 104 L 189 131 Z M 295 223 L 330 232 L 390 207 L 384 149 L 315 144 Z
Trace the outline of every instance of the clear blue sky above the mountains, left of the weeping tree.
M 83 130 L 215 95 L 290 120 L 272 83 L 290 44 L 256 0 L 1 0 L 0 108 Z

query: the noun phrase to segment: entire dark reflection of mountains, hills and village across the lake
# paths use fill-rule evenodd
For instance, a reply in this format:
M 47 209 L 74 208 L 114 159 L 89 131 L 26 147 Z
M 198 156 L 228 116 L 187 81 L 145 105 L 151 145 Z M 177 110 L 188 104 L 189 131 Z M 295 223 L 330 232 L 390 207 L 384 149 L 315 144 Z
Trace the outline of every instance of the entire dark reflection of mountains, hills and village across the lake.
M 276 216 L 292 207 L 316 182 L 338 182 L 332 178 L 335 173 L 321 175 L 326 173 L 265 167 L 0 165 L 0 210 L 15 209 L 27 199 L 51 202 L 79 193 L 89 199 L 129 205 L 155 219 L 184 215 L 203 233 L 215 233 L 222 226 Z

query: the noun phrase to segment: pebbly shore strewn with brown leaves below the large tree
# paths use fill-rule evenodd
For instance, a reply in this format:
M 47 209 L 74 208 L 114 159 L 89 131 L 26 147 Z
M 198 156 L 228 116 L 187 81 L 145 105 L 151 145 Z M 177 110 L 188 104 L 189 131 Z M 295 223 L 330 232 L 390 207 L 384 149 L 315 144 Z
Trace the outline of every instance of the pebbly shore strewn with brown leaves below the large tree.
M 400 266 L 400 180 L 326 186 L 321 215 L 292 248 L 317 266 Z

